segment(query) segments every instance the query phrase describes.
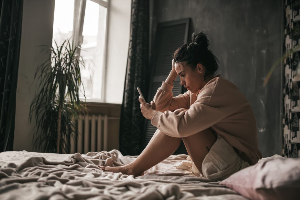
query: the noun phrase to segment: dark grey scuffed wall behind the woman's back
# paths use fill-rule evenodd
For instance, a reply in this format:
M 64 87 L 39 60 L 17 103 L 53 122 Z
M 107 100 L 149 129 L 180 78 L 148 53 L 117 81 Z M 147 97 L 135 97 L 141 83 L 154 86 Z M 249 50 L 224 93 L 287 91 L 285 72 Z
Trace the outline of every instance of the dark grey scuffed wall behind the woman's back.
M 191 18 L 190 34 L 195 29 L 207 33 L 221 75 L 240 89 L 254 110 L 263 157 L 281 154 L 282 66 L 277 66 L 266 87 L 262 84 L 282 56 L 282 10 L 280 0 L 150 2 L 152 41 L 158 22 L 187 17 Z M 172 59 L 170 67 L 171 63 Z

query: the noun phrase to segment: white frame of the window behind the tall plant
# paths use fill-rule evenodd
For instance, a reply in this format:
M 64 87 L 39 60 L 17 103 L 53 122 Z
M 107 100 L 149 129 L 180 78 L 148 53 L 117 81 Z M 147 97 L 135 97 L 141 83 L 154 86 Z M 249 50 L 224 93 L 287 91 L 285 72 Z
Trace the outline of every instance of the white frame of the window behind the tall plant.
M 83 41 L 82 30 L 85 16 L 85 6 L 87 0 L 75 0 L 74 1 L 74 14 L 73 14 L 73 41 L 74 45 L 81 46 Z M 103 67 L 102 67 L 102 84 L 101 84 L 101 99 L 84 99 L 80 98 L 81 101 L 95 102 L 95 103 L 106 103 L 106 72 L 107 72 L 107 33 L 108 33 L 108 22 L 109 22 L 109 0 L 90 0 L 100 6 L 106 7 L 106 23 L 105 23 L 105 38 L 104 38 L 104 55 L 103 55 Z M 80 55 L 80 48 L 77 49 L 77 53 Z

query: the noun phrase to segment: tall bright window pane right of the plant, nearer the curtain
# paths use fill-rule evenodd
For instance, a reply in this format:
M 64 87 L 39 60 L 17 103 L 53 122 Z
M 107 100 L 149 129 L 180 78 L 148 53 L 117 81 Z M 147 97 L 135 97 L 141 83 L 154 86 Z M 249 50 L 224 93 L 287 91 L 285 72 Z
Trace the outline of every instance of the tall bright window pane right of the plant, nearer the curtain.
M 107 8 L 87 0 L 80 55 L 86 63 L 81 69 L 87 99 L 101 99 Z

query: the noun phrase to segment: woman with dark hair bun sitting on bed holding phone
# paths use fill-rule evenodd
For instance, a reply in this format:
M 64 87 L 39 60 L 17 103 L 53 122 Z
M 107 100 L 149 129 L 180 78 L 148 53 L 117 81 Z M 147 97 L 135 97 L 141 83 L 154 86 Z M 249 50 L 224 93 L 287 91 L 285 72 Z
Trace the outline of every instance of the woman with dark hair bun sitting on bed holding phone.
M 143 175 L 173 154 L 181 140 L 205 178 L 223 180 L 262 158 L 253 110 L 233 83 L 215 76 L 217 58 L 208 46 L 200 32 L 175 51 L 172 70 L 154 101 L 148 104 L 139 97 L 143 116 L 151 119 L 157 131 L 132 163 L 103 170 Z M 177 76 L 188 91 L 173 97 Z

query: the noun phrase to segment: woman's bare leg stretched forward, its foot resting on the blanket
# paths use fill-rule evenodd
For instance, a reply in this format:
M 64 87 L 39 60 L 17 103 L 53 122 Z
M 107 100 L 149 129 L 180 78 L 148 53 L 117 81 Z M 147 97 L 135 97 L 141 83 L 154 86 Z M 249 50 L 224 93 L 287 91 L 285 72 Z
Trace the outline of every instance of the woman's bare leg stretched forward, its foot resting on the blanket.
M 128 165 L 121 167 L 103 167 L 104 171 L 122 172 L 128 175 L 143 175 L 147 169 L 172 155 L 179 147 L 182 138 L 168 136 L 157 130 L 144 151 Z

